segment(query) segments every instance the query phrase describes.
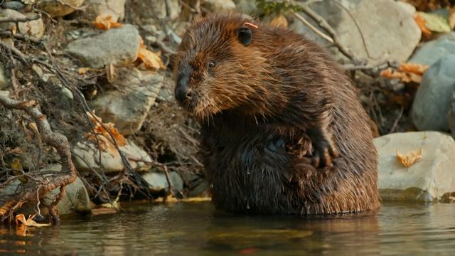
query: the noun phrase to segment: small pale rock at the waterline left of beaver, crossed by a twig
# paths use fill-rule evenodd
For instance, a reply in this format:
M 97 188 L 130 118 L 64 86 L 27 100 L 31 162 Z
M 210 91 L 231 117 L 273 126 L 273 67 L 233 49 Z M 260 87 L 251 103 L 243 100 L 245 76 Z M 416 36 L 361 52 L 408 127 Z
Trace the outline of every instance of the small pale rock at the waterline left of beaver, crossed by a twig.
M 169 189 L 166 174 L 164 173 L 151 172 L 142 175 L 142 178 L 149 183 L 149 190 L 151 192 L 159 193 L 168 191 Z M 169 180 L 171 181 L 174 192 L 178 193 L 183 191 L 183 180 L 175 171 L 169 172 Z

